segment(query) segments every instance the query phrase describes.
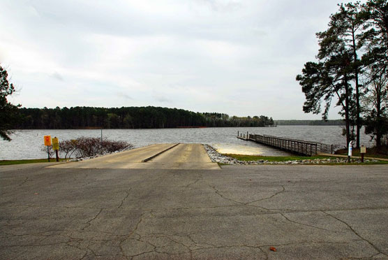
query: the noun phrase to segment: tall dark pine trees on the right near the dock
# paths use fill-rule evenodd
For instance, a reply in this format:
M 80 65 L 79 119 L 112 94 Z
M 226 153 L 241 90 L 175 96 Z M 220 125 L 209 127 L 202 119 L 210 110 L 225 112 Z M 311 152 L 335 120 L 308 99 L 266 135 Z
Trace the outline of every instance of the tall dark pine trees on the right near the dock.
M 341 108 L 347 143 L 360 146 L 360 129 L 380 146 L 388 133 L 388 2 L 341 3 L 328 29 L 317 34 L 319 51 L 297 80 L 305 113 L 327 118 L 331 101 Z

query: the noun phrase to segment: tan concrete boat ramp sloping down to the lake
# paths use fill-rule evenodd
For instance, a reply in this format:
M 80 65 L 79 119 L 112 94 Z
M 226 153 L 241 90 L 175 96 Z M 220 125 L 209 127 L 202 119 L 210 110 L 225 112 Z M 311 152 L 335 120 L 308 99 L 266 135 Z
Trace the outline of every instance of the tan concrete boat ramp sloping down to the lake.
M 211 162 L 203 145 L 164 143 L 148 145 L 87 161 L 52 166 L 54 168 L 158 168 L 220 170 Z

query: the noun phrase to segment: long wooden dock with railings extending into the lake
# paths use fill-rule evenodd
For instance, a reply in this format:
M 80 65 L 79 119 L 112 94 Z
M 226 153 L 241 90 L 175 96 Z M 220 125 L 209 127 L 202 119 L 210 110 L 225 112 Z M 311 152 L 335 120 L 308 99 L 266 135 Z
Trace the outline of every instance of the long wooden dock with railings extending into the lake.
M 276 136 L 258 135 L 248 132 L 246 132 L 246 134 L 237 132 L 237 138 L 242 140 L 251 140 L 256 143 L 262 143 L 263 145 L 269 145 L 281 150 L 306 156 L 312 156 L 319 153 L 334 154 L 334 150 L 336 148 L 336 145 L 314 143 L 308 142 L 306 140 L 297 140 Z

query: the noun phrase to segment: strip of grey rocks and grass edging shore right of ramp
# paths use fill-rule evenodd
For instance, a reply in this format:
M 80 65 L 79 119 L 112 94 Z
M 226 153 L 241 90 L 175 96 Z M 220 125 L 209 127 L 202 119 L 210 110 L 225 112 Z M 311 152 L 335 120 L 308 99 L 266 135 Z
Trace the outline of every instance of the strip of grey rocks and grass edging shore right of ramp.
M 217 152 L 211 145 L 204 145 L 204 149 L 209 155 L 211 161 L 220 164 L 237 164 L 237 165 L 258 165 L 258 164 L 344 164 L 348 160 L 346 158 L 328 158 L 328 159 L 303 159 L 294 161 L 239 161 L 232 157 L 225 156 Z M 308 157 L 306 157 L 308 158 Z M 364 162 L 377 162 L 375 159 L 364 159 Z M 352 159 L 353 163 L 361 163 L 361 159 Z

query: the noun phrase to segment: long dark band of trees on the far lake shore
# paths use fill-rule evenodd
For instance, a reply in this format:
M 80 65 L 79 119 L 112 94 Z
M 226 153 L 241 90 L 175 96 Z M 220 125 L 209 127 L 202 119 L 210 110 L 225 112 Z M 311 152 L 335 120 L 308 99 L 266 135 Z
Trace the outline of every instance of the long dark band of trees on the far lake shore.
M 15 129 L 154 129 L 176 127 L 267 127 L 272 118 L 230 117 L 223 113 L 195 113 L 177 108 L 20 108 L 23 120 Z

